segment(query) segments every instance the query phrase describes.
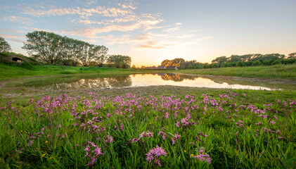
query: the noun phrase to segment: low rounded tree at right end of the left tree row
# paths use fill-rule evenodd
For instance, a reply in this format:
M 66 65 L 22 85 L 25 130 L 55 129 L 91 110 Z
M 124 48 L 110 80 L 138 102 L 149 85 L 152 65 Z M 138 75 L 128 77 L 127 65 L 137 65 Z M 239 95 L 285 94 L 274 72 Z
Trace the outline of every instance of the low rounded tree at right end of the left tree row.
M 115 68 L 130 68 L 131 57 L 122 55 L 111 55 L 107 59 L 107 62 Z

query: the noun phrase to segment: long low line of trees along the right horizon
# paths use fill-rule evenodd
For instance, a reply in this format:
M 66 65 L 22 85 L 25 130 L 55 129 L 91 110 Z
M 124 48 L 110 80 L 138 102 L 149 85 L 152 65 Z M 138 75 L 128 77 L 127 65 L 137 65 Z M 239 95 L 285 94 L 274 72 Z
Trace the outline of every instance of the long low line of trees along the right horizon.
M 224 68 L 224 67 L 245 67 L 257 65 L 276 65 L 296 63 L 296 52 L 285 56 L 283 54 L 246 54 L 231 55 L 230 57 L 220 56 L 212 60 L 212 63 L 200 63 L 196 60 L 185 61 L 184 58 L 164 60 L 161 65 L 176 65 L 179 69 L 202 69 L 202 68 Z

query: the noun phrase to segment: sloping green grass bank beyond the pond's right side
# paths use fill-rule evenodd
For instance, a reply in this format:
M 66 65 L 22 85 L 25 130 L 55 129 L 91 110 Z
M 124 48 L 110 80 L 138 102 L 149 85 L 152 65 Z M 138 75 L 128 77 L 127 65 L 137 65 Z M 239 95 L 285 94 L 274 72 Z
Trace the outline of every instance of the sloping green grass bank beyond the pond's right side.
M 240 67 L 240 68 L 178 70 L 177 72 L 200 74 L 200 75 L 224 75 L 224 76 L 237 76 L 237 77 L 260 77 L 260 78 L 296 80 L 296 64 Z

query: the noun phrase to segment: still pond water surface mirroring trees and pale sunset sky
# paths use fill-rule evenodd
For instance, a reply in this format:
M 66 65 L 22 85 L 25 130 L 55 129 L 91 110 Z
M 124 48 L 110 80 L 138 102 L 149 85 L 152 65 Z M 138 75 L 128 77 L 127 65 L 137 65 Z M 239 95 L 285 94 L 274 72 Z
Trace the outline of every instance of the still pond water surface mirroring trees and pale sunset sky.
M 56 84 L 30 85 L 27 87 L 35 87 L 47 91 L 51 90 L 69 90 L 69 89 L 97 89 L 112 87 L 143 87 L 151 85 L 172 85 L 184 87 L 209 87 L 221 89 L 278 89 L 268 87 L 268 83 L 252 84 L 247 81 L 229 81 L 216 77 L 196 77 L 192 75 L 179 75 L 171 73 L 160 74 L 136 74 L 125 75 L 120 77 L 106 77 L 94 79 L 80 79 L 71 82 L 60 82 Z M 250 85 L 252 84 L 252 85 Z M 260 85 L 262 84 L 262 85 Z M 266 87 L 267 86 L 267 87 Z

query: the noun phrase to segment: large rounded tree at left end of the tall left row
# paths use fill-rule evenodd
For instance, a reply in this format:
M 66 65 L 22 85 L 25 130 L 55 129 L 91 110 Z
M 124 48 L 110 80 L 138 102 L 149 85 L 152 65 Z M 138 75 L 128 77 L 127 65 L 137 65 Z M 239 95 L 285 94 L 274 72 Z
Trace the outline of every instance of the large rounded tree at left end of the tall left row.
M 56 63 L 63 54 L 63 37 L 52 32 L 34 31 L 27 33 L 27 42 L 22 49 L 46 63 Z

